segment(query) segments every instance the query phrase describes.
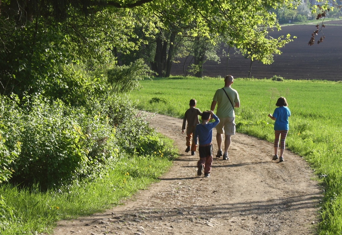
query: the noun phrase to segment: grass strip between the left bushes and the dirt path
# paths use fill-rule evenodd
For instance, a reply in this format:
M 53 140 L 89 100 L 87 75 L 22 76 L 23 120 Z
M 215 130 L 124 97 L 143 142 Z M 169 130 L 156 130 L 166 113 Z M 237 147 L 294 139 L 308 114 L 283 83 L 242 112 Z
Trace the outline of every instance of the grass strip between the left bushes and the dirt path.
M 161 137 L 161 136 L 159 136 Z M 0 195 L 15 208 L 15 218 L 1 220 L 1 235 L 52 233 L 55 223 L 62 219 L 87 216 L 122 204 L 138 190 L 158 180 L 172 164 L 177 150 L 171 140 L 163 138 L 167 151 L 149 156 L 124 155 L 107 167 L 104 177 L 93 182 L 78 182 L 58 191 L 41 192 L 36 185 L 20 189 L 0 185 Z

